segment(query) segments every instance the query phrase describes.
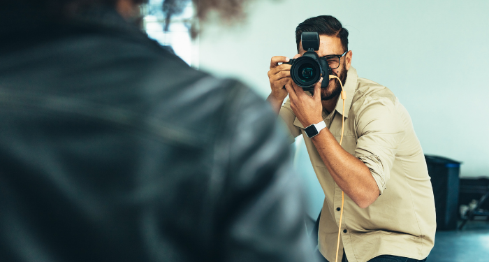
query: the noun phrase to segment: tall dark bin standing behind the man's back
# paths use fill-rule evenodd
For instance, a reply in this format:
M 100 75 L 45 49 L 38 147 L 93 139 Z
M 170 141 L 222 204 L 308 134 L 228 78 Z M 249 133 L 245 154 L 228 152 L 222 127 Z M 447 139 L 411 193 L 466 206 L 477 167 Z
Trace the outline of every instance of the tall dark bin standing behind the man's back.
M 458 183 L 460 161 L 425 155 L 428 173 L 431 177 L 437 230 L 455 230 L 458 217 Z

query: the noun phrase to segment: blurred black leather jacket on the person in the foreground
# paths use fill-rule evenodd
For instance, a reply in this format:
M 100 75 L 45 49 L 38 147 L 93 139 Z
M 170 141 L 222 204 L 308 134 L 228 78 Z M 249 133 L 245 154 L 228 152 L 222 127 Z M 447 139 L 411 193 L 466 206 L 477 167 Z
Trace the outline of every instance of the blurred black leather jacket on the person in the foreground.
M 311 261 L 267 103 L 78 18 L 0 31 L 0 261 Z

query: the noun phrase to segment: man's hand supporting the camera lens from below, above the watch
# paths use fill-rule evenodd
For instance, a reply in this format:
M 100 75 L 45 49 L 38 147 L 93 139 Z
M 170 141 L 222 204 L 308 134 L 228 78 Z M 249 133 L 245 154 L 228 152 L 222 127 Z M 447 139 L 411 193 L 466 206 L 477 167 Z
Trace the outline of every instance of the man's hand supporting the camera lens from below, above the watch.
M 314 85 L 314 94 L 309 96 L 304 92 L 302 87 L 295 85 L 293 81 L 289 81 L 285 88 L 289 92 L 289 99 L 291 100 L 291 108 L 300 121 L 302 126 L 307 127 L 311 124 L 317 124 L 323 121 L 323 104 L 321 103 L 321 82 Z

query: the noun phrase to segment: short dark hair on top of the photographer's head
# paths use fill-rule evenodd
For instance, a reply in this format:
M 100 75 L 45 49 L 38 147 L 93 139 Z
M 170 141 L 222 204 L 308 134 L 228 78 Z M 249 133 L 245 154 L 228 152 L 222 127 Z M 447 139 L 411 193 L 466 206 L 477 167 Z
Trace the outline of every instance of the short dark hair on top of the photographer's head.
M 299 52 L 300 36 L 302 32 L 318 32 L 319 35 L 336 36 L 342 41 L 343 51 L 348 50 L 348 30 L 342 23 L 331 15 L 319 15 L 307 18 L 295 27 L 295 43 Z

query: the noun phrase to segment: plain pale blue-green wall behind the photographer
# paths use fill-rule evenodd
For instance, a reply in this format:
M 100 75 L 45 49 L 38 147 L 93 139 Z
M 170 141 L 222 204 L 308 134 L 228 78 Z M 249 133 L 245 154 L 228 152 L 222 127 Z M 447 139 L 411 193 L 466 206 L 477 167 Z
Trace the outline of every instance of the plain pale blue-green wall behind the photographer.
M 426 154 L 463 161 L 462 176 L 489 176 L 489 1 L 256 1 L 239 27 L 203 24 L 200 68 L 265 97 L 270 57 L 293 57 L 297 24 L 325 14 L 349 29 L 358 75 L 407 108 Z

